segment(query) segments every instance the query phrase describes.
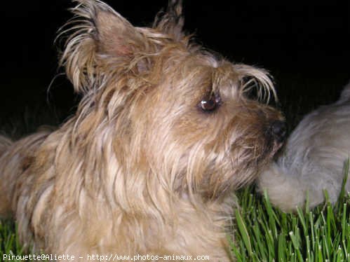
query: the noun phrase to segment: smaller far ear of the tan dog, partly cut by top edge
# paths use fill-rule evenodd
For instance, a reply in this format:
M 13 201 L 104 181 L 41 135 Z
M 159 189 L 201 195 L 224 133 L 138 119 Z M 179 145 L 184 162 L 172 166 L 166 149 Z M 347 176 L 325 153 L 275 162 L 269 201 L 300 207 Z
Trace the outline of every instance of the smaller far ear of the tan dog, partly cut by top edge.
M 164 34 L 173 36 L 180 41 L 184 38 L 184 15 L 182 13 L 182 0 L 169 0 L 166 12 L 159 12 L 154 20 L 153 27 Z

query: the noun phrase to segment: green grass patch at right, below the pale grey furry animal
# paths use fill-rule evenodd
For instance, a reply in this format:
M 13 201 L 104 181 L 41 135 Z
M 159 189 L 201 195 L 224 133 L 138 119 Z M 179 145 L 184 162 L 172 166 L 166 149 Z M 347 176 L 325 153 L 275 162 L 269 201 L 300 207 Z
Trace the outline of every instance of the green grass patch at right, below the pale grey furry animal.
M 325 201 L 295 214 L 275 209 L 266 193 L 257 196 L 252 187 L 238 192 L 238 199 L 236 243 L 231 243 L 237 261 L 350 261 L 350 195 L 344 186 L 335 206 Z

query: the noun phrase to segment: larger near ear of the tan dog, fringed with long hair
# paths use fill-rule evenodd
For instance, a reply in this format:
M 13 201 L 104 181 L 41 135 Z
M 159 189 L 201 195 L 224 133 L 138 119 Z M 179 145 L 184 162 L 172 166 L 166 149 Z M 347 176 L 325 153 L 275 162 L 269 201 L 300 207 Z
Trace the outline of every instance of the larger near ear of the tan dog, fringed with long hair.
M 86 93 L 105 81 L 105 75 L 116 67 L 130 66 L 137 53 L 150 48 L 147 36 L 140 29 L 97 0 L 75 0 L 72 8 L 75 19 L 62 27 L 68 34 L 60 65 L 66 69 L 76 92 Z M 68 29 L 67 29 L 68 27 Z M 146 69 L 144 61 L 136 62 L 138 69 Z

